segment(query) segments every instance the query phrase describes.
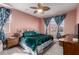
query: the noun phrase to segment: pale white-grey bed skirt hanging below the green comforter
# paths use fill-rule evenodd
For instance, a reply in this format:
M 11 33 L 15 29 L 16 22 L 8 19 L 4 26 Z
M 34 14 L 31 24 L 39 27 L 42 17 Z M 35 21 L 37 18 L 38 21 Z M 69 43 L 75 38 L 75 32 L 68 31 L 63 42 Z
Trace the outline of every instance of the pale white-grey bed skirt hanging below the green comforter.
M 22 48 L 24 48 L 24 52 L 31 54 L 31 55 L 38 55 L 44 52 L 44 48 L 48 47 L 51 43 L 53 43 L 53 40 L 48 40 L 47 42 L 37 46 L 35 51 L 33 51 L 30 47 L 28 47 L 25 44 L 20 44 Z

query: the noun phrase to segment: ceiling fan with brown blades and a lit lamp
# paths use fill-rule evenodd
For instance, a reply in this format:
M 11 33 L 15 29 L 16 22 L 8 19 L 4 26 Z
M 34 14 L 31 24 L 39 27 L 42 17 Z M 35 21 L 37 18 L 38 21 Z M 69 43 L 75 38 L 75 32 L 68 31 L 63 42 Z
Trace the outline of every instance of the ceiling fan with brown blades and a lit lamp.
M 37 7 L 30 7 L 32 9 L 35 9 L 34 13 L 44 13 L 45 11 L 50 10 L 50 7 L 43 5 L 41 3 L 37 4 Z

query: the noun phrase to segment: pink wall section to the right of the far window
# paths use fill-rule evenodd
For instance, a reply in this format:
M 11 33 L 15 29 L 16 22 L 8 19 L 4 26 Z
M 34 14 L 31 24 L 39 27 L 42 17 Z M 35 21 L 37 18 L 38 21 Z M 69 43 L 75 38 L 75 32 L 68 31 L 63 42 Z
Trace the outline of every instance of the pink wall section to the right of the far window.
M 64 20 L 64 34 L 74 34 L 76 25 L 76 10 L 67 13 Z

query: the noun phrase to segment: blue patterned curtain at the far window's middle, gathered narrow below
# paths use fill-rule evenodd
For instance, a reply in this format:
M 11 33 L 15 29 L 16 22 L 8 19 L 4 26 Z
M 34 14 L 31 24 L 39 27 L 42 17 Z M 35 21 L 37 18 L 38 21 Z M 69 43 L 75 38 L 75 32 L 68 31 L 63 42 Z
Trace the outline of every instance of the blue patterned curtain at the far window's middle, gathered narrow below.
M 63 16 L 55 16 L 54 17 L 55 22 L 57 23 L 57 26 L 58 26 L 57 38 L 61 37 L 60 31 L 59 31 L 59 27 L 60 27 L 60 24 L 63 22 L 64 17 L 65 17 L 64 15 Z

